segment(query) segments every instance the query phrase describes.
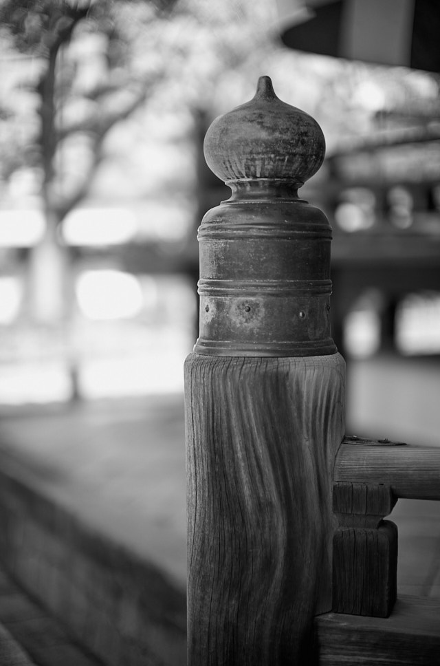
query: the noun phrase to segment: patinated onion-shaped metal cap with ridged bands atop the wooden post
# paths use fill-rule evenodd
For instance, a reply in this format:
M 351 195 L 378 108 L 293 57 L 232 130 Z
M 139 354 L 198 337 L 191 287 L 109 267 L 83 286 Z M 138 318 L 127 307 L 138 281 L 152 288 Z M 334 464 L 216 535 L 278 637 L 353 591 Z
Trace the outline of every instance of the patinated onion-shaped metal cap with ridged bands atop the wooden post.
M 268 76 L 247 104 L 212 123 L 208 166 L 232 196 L 203 217 L 200 333 L 215 356 L 333 354 L 331 228 L 298 187 L 322 164 L 316 121 L 283 103 Z

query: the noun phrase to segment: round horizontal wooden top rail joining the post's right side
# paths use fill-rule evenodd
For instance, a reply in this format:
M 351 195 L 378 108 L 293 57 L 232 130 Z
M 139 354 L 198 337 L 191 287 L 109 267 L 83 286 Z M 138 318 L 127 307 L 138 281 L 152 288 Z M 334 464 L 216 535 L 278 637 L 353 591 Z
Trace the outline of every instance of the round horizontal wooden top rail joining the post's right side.
M 333 480 L 383 483 L 395 497 L 440 500 L 440 447 L 345 438 L 336 456 Z

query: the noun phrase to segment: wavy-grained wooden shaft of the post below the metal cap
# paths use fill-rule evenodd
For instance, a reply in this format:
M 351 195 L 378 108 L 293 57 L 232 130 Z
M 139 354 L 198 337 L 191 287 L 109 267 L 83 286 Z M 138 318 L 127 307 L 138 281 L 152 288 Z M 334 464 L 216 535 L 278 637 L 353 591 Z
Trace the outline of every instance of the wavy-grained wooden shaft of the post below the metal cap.
M 186 361 L 188 665 L 311 664 L 331 608 L 344 361 Z

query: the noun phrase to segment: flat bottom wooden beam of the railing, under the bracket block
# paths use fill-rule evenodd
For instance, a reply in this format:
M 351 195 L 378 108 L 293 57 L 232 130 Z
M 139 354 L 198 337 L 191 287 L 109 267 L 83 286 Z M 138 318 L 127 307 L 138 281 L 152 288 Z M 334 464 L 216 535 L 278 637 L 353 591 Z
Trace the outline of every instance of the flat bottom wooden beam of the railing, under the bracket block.
M 387 618 L 316 618 L 319 666 L 440 666 L 440 602 L 399 597 Z

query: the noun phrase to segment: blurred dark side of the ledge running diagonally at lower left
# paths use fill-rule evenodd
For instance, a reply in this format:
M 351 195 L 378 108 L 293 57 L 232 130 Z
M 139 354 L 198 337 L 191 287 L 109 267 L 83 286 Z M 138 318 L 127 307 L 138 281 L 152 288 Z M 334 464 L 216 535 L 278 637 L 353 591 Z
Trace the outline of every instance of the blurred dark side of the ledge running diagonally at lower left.
M 5 570 L 104 664 L 185 663 L 185 594 L 156 565 L 10 471 L 0 471 L 0 521 Z

